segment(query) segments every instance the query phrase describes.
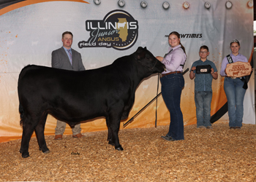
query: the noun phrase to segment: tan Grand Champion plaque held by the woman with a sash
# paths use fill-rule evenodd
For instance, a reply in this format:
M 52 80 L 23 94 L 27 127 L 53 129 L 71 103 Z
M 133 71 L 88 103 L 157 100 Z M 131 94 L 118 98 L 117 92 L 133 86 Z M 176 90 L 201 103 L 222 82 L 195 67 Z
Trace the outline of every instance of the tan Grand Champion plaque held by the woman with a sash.
M 252 66 L 248 62 L 238 61 L 236 63 L 227 64 L 227 76 L 241 77 L 251 74 Z

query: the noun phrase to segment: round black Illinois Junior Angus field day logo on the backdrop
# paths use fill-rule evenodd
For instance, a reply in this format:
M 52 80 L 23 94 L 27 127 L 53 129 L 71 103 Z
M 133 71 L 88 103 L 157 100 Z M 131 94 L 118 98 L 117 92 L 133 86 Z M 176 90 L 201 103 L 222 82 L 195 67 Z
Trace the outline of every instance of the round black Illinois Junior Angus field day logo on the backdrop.
M 138 39 L 138 21 L 124 10 L 113 10 L 103 20 L 86 20 L 88 41 L 79 41 L 78 47 L 113 47 L 128 50 Z

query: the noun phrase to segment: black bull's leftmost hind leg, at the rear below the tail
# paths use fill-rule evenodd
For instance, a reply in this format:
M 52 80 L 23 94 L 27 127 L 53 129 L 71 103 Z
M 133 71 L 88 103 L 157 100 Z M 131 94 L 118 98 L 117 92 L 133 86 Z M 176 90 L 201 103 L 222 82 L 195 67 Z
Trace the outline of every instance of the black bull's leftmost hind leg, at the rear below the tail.
M 23 119 L 23 132 L 20 146 L 20 153 L 23 158 L 29 157 L 29 141 L 34 132 L 34 123 L 30 116 Z

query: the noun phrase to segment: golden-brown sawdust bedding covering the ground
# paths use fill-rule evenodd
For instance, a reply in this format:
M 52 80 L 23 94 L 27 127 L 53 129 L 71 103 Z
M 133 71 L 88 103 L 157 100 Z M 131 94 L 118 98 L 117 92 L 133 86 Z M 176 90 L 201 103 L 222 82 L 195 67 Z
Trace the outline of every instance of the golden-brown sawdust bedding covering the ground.
M 184 141 L 164 141 L 168 126 L 119 131 L 124 151 L 107 142 L 108 131 L 45 136 L 49 154 L 31 138 L 30 157 L 20 140 L 0 143 L 0 181 L 256 181 L 256 125 L 230 130 L 184 127 Z

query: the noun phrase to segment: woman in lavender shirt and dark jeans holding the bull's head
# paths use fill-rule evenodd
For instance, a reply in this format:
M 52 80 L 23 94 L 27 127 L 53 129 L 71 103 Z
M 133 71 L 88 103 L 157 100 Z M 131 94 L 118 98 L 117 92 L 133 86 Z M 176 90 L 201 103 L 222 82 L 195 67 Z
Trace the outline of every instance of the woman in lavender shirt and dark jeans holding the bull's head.
M 178 32 L 173 31 L 169 34 L 168 43 L 170 47 L 165 57 L 156 57 L 166 67 L 166 71 L 162 72 L 160 81 L 162 84 L 162 98 L 170 111 L 169 132 L 162 138 L 166 141 L 178 141 L 184 140 L 184 123 L 180 105 L 181 91 L 184 87 L 182 70 L 187 55 Z

